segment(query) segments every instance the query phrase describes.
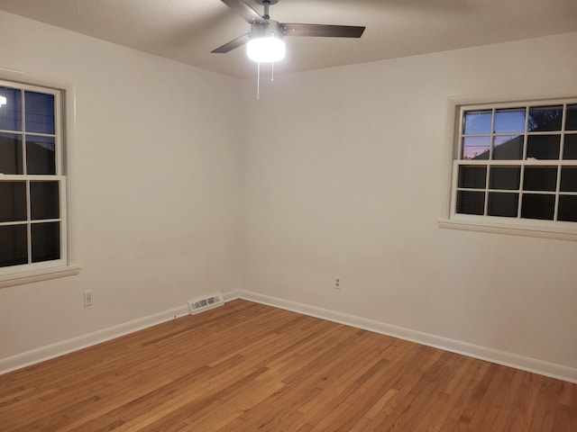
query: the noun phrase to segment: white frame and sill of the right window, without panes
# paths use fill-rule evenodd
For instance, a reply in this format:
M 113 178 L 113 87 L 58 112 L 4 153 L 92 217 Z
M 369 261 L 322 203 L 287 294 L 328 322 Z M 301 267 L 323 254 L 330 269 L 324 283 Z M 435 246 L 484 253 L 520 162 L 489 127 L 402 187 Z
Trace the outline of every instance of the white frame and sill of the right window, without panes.
M 444 229 L 463 229 L 537 238 L 558 238 L 577 241 L 577 222 L 558 220 L 530 220 L 497 216 L 471 215 L 456 212 L 456 191 L 459 165 L 488 166 L 577 166 L 575 160 L 461 160 L 462 112 L 477 108 L 508 108 L 523 105 L 554 105 L 577 103 L 577 88 L 562 89 L 535 94 L 491 94 L 457 96 L 449 98 L 446 123 L 445 150 L 447 160 L 447 188 L 443 201 L 443 216 L 438 219 L 439 227 Z M 526 132 L 527 134 L 527 132 Z M 559 193 L 558 169 L 557 190 Z M 487 186 L 488 187 L 488 186 Z M 485 193 L 489 190 L 485 189 Z M 521 184 L 522 187 L 522 184 Z M 511 192 L 511 191 L 508 191 Z M 521 192 L 522 193 L 522 192 Z M 487 196 L 487 195 L 486 195 Z M 555 212 L 556 215 L 556 212 Z

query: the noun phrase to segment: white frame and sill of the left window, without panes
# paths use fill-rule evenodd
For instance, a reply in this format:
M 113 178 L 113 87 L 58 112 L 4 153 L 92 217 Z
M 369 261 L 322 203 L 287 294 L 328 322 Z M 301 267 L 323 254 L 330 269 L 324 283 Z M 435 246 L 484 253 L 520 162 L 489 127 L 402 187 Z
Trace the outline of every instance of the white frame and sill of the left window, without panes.
M 0 288 L 29 284 L 42 280 L 78 275 L 80 266 L 72 257 L 70 225 L 70 148 L 74 138 L 74 87 L 57 80 L 45 79 L 22 72 L 0 68 L 0 85 L 13 86 L 55 96 L 56 175 L 2 175 L 4 180 L 50 180 L 60 183 L 60 259 L 0 267 Z M 30 223 L 30 222 L 26 222 Z M 30 241 L 30 239 L 29 239 Z

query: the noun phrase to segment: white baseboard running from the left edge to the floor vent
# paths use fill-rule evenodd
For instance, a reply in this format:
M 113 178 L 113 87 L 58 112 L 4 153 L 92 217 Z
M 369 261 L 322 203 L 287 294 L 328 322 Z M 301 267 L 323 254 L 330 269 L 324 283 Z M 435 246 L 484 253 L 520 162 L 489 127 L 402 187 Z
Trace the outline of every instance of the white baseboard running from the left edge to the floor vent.
M 92 347 L 96 344 L 105 342 L 106 340 L 120 338 L 129 333 L 173 320 L 175 316 L 177 318 L 183 317 L 188 315 L 188 312 L 188 304 L 185 304 L 178 308 L 170 309 L 169 311 L 154 313 L 144 318 L 139 318 L 113 327 L 87 333 L 86 335 L 78 336 L 77 338 L 63 340 L 46 347 L 40 347 L 32 349 L 31 351 L 26 351 L 22 354 L 17 354 L 16 356 L 2 358 L 0 359 L 0 374 L 6 374 L 16 369 L 41 363 L 54 357 L 78 351 L 79 349 Z

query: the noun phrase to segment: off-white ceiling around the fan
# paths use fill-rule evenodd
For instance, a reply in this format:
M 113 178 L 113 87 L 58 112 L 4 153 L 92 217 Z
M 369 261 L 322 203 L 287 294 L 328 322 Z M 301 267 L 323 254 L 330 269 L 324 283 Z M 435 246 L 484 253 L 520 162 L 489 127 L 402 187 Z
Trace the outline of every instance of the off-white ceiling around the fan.
M 254 76 L 243 48 L 210 53 L 250 30 L 219 0 L 0 0 L 0 10 L 228 76 Z M 577 0 L 279 0 L 270 15 L 280 23 L 367 27 L 361 39 L 287 38 L 277 72 L 577 31 Z

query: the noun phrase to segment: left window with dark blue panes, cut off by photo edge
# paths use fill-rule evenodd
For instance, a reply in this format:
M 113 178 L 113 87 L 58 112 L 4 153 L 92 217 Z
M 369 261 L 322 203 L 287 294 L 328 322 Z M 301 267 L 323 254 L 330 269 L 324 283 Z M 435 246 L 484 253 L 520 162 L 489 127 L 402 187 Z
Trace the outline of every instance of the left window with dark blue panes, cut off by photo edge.
M 69 265 L 63 93 L 0 81 L 3 281 Z

